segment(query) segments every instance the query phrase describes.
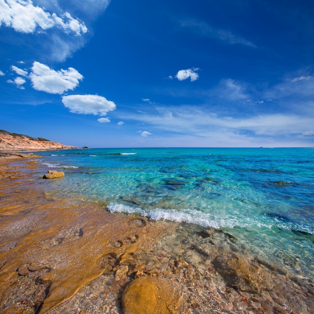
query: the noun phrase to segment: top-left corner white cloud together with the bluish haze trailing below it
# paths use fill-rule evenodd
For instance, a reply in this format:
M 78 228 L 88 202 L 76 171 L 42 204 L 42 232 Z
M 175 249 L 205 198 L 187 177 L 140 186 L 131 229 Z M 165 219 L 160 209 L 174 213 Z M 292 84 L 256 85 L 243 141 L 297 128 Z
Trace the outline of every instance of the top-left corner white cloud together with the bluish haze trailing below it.
M 0 0 L 0 28 L 14 29 L 15 38 L 20 33 L 34 35 L 29 36 L 27 49 L 33 50 L 35 58 L 64 62 L 85 45 L 92 35 L 86 25 L 101 15 L 109 3 L 110 0 Z M 35 39 L 39 34 L 40 41 Z

